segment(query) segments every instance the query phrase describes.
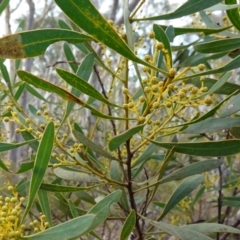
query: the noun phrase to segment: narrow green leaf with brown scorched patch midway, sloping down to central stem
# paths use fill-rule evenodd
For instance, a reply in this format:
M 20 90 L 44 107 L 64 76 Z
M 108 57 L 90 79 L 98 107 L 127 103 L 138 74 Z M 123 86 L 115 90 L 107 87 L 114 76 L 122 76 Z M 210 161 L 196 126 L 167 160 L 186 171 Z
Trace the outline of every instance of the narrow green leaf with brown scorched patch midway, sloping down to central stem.
M 93 107 L 91 107 L 90 105 L 88 105 L 87 103 L 82 101 L 81 99 L 75 97 L 73 94 L 66 91 L 65 89 L 58 87 L 57 85 L 54 85 L 50 82 L 47 82 L 47 81 L 43 80 L 42 78 L 39 78 L 29 72 L 18 70 L 17 74 L 23 81 L 35 86 L 36 88 L 41 88 L 48 92 L 54 92 L 54 93 L 58 94 L 60 97 L 66 99 L 68 101 L 75 102 L 81 106 L 84 106 L 85 108 L 88 108 L 93 115 L 96 115 L 101 118 L 123 120 L 122 118 L 119 118 L 119 117 L 112 117 L 112 116 L 102 114 L 101 112 L 97 111 L 96 109 L 94 109 Z

